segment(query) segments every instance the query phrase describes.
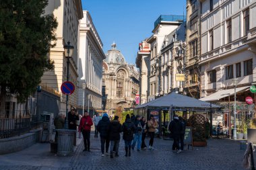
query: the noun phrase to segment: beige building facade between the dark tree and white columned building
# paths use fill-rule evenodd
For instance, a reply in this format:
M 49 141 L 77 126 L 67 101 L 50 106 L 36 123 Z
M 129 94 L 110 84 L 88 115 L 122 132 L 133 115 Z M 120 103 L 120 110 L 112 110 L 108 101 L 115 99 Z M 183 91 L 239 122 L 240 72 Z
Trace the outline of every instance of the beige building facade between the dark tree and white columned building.
M 46 13 L 53 13 L 57 17 L 58 27 L 56 30 L 57 41 L 56 46 L 51 48 L 49 58 L 54 60 L 55 67 L 53 71 L 46 71 L 41 78 L 40 86 L 44 89 L 50 89 L 56 95 L 60 96 L 61 102 L 59 111 L 65 114 L 66 95 L 61 93 L 61 84 L 67 81 L 67 58 L 64 54 L 64 45 L 70 42 L 73 49 L 73 55 L 69 64 L 69 81 L 77 88 L 77 64 L 78 64 L 78 24 L 79 19 L 83 17 L 81 0 L 68 1 L 49 1 L 49 5 L 45 9 Z M 69 107 L 72 105 L 77 107 L 77 90 L 69 95 Z

